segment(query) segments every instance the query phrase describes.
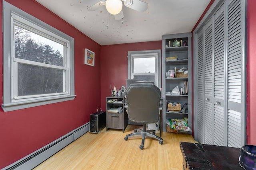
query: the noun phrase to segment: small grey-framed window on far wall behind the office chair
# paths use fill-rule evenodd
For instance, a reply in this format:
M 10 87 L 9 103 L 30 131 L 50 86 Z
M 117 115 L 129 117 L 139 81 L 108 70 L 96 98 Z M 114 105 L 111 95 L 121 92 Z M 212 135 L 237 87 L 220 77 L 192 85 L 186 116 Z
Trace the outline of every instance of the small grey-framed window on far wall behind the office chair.
M 143 79 L 161 87 L 161 50 L 129 51 L 128 79 Z

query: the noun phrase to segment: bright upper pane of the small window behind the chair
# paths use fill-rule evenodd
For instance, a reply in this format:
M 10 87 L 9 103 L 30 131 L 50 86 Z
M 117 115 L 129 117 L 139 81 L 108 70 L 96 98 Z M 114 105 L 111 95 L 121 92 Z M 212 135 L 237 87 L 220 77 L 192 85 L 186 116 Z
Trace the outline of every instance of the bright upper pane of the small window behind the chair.
M 155 73 L 156 58 L 134 58 L 134 74 Z

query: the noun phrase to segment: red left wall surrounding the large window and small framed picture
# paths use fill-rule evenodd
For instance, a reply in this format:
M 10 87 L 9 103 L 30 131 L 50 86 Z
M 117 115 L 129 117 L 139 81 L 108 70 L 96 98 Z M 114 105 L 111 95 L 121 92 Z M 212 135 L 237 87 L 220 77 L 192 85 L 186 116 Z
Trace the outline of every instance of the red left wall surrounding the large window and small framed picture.
M 0 110 L 0 169 L 62 137 L 89 121 L 100 107 L 100 45 L 34 0 L 6 0 L 75 39 L 74 100 L 3 112 Z M 0 1 L 2 9 L 2 0 Z M 2 12 L 0 13 L 2 32 Z M 2 34 L 0 34 L 2 40 Z M 95 52 L 95 67 L 84 64 L 84 49 Z M 2 54 L 2 41 L 0 41 Z M 2 55 L 0 55 L 2 82 Z M 0 83 L 2 96 L 2 83 Z M 2 104 L 2 97 L 0 98 Z

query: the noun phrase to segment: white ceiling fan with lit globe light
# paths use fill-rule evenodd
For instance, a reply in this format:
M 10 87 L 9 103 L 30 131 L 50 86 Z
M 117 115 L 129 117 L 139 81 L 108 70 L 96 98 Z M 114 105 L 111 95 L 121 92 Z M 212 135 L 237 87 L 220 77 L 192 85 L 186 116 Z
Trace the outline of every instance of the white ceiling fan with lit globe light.
M 95 11 L 101 6 L 105 5 L 108 12 L 114 15 L 116 20 L 121 20 L 122 18 L 124 18 L 124 14 L 122 12 L 122 2 L 124 2 L 124 6 L 139 12 L 144 12 L 148 9 L 148 3 L 140 0 L 101 0 L 96 4 L 88 7 L 87 10 Z

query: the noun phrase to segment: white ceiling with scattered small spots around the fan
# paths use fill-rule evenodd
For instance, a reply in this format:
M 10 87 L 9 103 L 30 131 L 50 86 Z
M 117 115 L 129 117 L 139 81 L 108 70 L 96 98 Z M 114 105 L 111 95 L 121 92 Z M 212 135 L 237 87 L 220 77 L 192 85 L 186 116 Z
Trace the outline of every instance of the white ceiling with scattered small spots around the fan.
M 122 23 L 115 20 L 105 6 L 93 12 L 86 10 L 100 0 L 36 1 L 100 45 L 160 41 L 162 35 L 191 32 L 210 2 L 142 0 L 148 3 L 148 10 L 137 12 L 123 5 Z

